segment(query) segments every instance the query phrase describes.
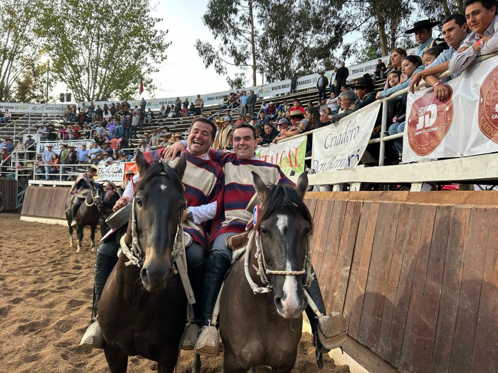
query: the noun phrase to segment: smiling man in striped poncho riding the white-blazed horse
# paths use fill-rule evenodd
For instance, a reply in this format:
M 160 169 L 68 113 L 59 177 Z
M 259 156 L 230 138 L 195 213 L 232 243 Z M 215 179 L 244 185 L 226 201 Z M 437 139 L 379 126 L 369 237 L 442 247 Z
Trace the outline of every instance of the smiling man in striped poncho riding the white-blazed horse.
M 251 212 L 246 209 L 255 193 L 251 171 L 257 172 L 264 184 L 293 185 L 277 165 L 257 159 L 254 127 L 245 123 L 239 124 L 233 132 L 233 138 L 235 153 L 211 151 L 213 159 L 223 167 L 225 185 L 221 198 L 218 200 L 218 210 L 213 221 L 211 234 L 213 247 L 208 253 L 204 272 L 201 323 L 203 328 L 195 347 L 197 354 L 205 356 L 217 356 L 219 353 L 218 332 L 211 325 L 211 318 L 221 285 L 232 261 L 232 251 L 228 248 L 226 240 L 229 236 L 244 232 L 246 224 L 252 219 Z M 184 146 L 184 143 L 177 142 L 168 148 L 165 158 L 173 157 Z M 338 336 L 329 332 L 343 324 L 344 316 L 342 314 L 327 316 L 316 278 L 309 284 L 306 291 L 322 314 L 318 319 L 311 306 L 306 307 L 313 336 L 318 337 L 318 348 L 323 352 L 328 352 L 327 346 L 337 347 L 337 341 L 344 338 L 344 333 Z

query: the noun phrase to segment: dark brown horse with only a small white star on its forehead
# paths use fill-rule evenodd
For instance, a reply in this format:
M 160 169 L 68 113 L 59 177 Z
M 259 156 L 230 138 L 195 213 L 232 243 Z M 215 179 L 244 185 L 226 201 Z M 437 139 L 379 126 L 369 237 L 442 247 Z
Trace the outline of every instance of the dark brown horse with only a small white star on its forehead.
M 180 158 L 173 169 L 162 162 L 149 166 L 138 152 L 136 164 L 140 181 L 124 241 L 129 246 L 134 236 L 143 266 L 126 266 L 128 258 L 120 255 L 104 287 L 98 320 L 112 373 L 126 372 L 128 356 L 134 355 L 156 361 L 159 373 L 170 373 L 187 317 L 183 284 L 180 276 L 172 276 L 171 263 L 185 203 L 181 179 L 186 162 Z

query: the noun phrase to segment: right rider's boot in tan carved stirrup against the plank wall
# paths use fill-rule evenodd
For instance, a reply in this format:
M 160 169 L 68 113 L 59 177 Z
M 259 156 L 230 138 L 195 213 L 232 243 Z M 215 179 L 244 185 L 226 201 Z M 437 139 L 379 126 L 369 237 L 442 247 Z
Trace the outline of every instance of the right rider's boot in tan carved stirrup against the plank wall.
M 318 317 L 310 305 L 306 307 L 306 316 L 310 321 L 313 344 L 315 345 L 316 341 L 318 350 L 325 353 L 340 347 L 346 341 L 346 319 L 339 312 L 331 312 L 327 316 L 320 285 L 316 278 L 306 291 L 322 314 L 321 317 Z

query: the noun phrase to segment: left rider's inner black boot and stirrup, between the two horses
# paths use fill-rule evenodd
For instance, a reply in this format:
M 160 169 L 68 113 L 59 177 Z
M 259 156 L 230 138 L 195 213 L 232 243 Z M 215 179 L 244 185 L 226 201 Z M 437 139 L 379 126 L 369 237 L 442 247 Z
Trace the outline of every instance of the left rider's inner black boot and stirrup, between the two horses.
M 199 325 L 202 315 L 202 282 L 204 275 L 205 261 L 200 265 L 188 269 L 188 278 L 192 285 L 192 291 L 195 296 L 195 303 L 192 304 L 194 309 L 195 322 L 191 323 L 183 336 L 182 350 L 193 350 L 199 334 Z

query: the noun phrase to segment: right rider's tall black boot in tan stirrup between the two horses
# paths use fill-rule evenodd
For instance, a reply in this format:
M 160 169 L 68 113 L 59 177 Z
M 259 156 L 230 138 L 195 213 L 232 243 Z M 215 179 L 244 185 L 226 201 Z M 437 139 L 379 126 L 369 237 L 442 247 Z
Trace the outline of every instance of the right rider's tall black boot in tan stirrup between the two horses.
M 220 339 L 218 329 L 216 326 L 211 325 L 211 318 L 213 317 L 223 279 L 229 267 L 230 260 L 216 252 L 212 252 L 207 259 L 202 288 L 202 329 L 195 345 L 196 354 L 204 356 L 218 356 L 219 354 Z

